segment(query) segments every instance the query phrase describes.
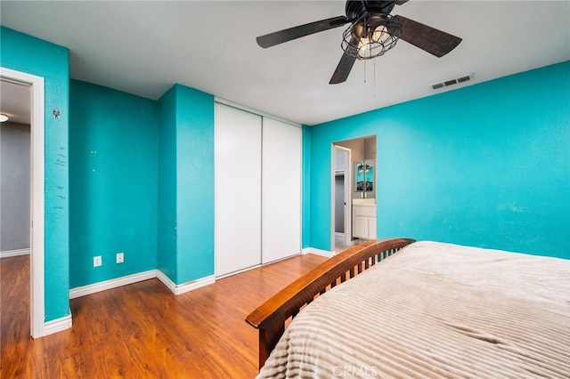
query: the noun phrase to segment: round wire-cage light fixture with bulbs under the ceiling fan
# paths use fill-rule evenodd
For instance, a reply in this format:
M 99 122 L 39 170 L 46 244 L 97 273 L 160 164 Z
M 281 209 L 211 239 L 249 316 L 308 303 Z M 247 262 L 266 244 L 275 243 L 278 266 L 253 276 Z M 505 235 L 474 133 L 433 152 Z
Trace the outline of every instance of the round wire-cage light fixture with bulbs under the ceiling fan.
M 369 60 L 392 49 L 400 35 L 402 24 L 386 13 L 362 16 L 343 33 L 342 50 L 357 60 Z

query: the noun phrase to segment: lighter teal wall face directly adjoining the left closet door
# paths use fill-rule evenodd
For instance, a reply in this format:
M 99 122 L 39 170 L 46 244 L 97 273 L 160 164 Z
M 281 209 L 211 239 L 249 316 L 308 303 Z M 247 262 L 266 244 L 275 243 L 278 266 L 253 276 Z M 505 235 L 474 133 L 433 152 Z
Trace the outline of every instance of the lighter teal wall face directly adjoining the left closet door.
M 178 275 L 176 284 L 214 275 L 214 96 L 176 91 Z

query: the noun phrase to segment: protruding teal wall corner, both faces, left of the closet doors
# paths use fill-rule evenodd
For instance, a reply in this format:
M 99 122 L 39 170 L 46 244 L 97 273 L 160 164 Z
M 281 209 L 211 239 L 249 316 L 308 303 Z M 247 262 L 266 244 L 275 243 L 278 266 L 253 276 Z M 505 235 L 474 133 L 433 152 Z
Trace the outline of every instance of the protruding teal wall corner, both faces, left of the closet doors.
M 159 270 L 214 275 L 214 96 L 175 85 L 159 100 Z

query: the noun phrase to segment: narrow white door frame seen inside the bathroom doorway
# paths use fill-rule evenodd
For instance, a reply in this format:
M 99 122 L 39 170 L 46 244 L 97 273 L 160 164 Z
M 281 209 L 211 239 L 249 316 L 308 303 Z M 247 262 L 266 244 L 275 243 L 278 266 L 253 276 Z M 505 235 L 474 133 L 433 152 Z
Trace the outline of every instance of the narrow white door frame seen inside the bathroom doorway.
M 334 251 L 336 249 L 336 242 L 335 242 L 335 215 L 336 215 L 336 206 L 335 206 L 335 198 L 336 198 L 336 186 L 335 186 L 335 178 L 336 178 L 336 150 L 343 150 L 346 152 L 345 156 L 345 182 L 343 188 L 343 197 L 344 197 L 344 206 L 345 206 L 345 246 L 351 246 L 352 244 L 352 213 L 351 213 L 351 193 L 352 193 L 352 150 L 345 148 L 344 146 L 340 146 L 337 144 L 332 144 L 332 154 L 331 154 L 331 164 L 332 167 L 332 177 L 331 177 L 331 213 L 330 213 L 330 239 L 331 239 L 331 250 Z

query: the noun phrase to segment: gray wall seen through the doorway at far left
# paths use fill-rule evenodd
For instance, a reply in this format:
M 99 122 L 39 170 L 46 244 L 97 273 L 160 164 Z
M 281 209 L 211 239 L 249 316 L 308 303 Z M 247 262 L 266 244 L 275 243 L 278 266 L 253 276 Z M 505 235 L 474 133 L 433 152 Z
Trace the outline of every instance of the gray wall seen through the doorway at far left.
M 0 251 L 29 248 L 29 125 L 0 124 Z

